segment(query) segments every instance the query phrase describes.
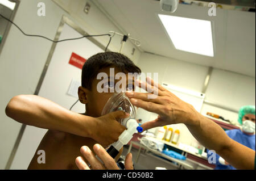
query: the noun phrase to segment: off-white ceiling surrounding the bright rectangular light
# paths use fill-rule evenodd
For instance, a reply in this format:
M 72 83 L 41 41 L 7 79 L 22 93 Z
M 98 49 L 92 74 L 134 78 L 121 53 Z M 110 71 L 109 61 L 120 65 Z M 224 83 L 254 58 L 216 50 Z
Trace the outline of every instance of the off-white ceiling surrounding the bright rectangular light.
M 157 17 L 157 14 L 168 14 L 160 11 L 159 1 L 97 0 L 97 2 L 108 12 L 112 20 L 126 31 L 123 33 L 130 33 L 130 36 L 141 40 L 141 48 L 145 52 L 255 77 L 254 12 L 217 9 L 217 16 L 208 16 L 207 7 L 180 4 L 174 14 L 169 13 L 212 22 L 214 57 L 207 57 L 174 48 Z

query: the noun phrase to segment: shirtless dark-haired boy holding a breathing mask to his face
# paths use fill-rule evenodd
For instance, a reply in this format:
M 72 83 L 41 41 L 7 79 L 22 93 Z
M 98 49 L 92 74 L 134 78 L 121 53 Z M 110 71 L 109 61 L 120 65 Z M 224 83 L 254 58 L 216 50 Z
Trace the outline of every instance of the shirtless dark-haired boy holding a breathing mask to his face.
M 80 155 L 81 146 L 86 145 L 93 150 L 96 143 L 108 146 L 118 140 L 125 128 L 111 120 L 127 115 L 118 111 L 101 116 L 106 102 L 114 93 L 97 91 L 98 82 L 103 80 L 103 77 L 97 79 L 97 74 L 104 72 L 109 76 L 110 68 L 114 68 L 114 74 L 141 73 L 141 69 L 120 53 L 105 52 L 90 57 L 82 68 L 82 86 L 78 91 L 80 102 L 85 104 L 85 113 L 66 110 L 36 95 L 18 95 L 10 100 L 6 107 L 7 116 L 19 123 L 49 129 L 36 150 L 36 153 L 38 150 L 46 151 L 46 163 L 39 164 L 35 153 L 28 169 L 78 169 L 75 159 Z M 126 77 L 128 84 L 130 81 Z M 106 86 L 113 89 L 118 81 L 114 79 L 114 82 L 108 82 Z M 131 86 L 134 90 L 134 80 L 133 85 L 126 87 Z

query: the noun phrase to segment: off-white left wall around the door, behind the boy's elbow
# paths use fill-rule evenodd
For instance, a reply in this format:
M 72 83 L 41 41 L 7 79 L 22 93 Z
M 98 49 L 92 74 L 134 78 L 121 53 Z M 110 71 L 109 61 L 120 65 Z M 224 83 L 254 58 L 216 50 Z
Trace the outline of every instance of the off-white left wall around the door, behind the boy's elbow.
M 100 10 L 91 5 L 90 15 L 86 16 L 82 12 L 85 1 L 73 1 L 73 11 L 80 14 L 80 18 L 64 11 L 53 1 L 43 1 L 46 4 L 46 16 L 38 16 L 38 3 L 41 1 L 20 1 L 14 22 L 26 33 L 43 35 L 54 39 L 61 17 L 68 16 L 81 28 L 91 35 L 117 31 L 110 20 L 108 20 Z M 71 1 L 65 1 L 71 2 Z M 83 5 L 84 3 L 84 5 Z M 78 15 L 77 15 L 78 16 Z M 74 20 L 74 19 L 77 19 Z M 102 44 L 108 44 L 109 37 L 98 37 Z M 118 52 L 121 38 L 114 37 L 109 49 Z M 40 75 L 47 60 L 52 43 L 37 37 L 24 36 L 16 27 L 11 26 L 9 35 L 5 41 L 0 54 L 0 169 L 5 169 L 7 160 L 15 144 L 22 124 L 10 119 L 5 115 L 5 107 L 9 100 L 15 95 L 34 94 Z M 85 47 L 86 48 L 86 47 Z M 131 49 L 135 48 L 134 56 Z M 127 43 L 123 53 L 131 58 L 135 63 L 138 61 L 140 52 L 131 43 Z M 69 58 L 69 57 L 67 57 Z M 32 135 L 31 135 L 32 136 Z

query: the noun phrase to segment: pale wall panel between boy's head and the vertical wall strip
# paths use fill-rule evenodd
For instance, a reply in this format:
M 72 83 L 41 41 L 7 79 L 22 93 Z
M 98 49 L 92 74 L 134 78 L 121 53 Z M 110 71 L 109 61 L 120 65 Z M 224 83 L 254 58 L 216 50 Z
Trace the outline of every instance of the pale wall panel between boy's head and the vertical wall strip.
M 142 53 L 138 66 L 144 73 L 157 72 L 159 83 L 170 83 L 201 92 L 208 68 L 150 53 Z

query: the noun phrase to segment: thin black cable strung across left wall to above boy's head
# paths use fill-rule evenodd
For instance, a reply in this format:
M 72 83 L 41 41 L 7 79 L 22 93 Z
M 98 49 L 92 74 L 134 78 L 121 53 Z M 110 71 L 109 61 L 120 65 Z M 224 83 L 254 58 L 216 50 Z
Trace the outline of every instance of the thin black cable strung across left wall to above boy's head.
M 0 16 L 1 16 L 3 19 L 5 19 L 5 20 L 7 20 L 8 22 L 10 22 L 11 24 L 13 24 L 16 28 L 18 28 L 18 30 L 19 30 L 20 32 L 22 32 L 23 35 L 25 35 L 25 36 L 32 36 L 32 37 L 42 37 L 43 39 L 47 39 L 47 40 L 49 40 L 49 41 L 52 41 L 53 43 L 60 43 L 60 42 L 62 42 L 62 41 L 69 41 L 69 40 L 78 40 L 78 39 L 82 39 L 82 38 L 84 38 L 84 37 L 106 36 L 106 35 L 108 35 L 108 36 L 109 36 L 109 43 L 108 43 L 108 45 L 107 45 L 106 48 L 105 48 L 105 52 L 106 52 L 106 50 L 108 50 L 109 44 L 110 44 L 110 42 L 111 42 L 111 40 L 112 40 L 112 37 L 111 37 L 110 34 L 102 34 L 102 35 L 85 35 L 85 36 L 77 37 L 77 38 L 73 38 L 73 39 L 64 39 L 64 40 L 55 41 L 55 40 L 51 40 L 51 39 L 49 39 L 48 37 L 41 36 L 41 35 L 29 35 L 29 34 L 23 32 L 23 31 L 19 28 L 19 26 L 16 25 L 14 22 L 12 22 L 10 19 L 6 18 L 6 17 L 3 16 L 2 14 L 0 14 Z M 72 107 L 75 106 L 75 104 L 76 104 L 78 101 L 79 101 L 79 99 L 76 100 L 76 102 L 71 106 L 71 108 L 70 108 L 69 110 L 71 110 Z

